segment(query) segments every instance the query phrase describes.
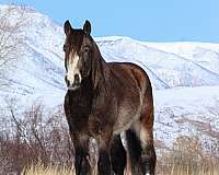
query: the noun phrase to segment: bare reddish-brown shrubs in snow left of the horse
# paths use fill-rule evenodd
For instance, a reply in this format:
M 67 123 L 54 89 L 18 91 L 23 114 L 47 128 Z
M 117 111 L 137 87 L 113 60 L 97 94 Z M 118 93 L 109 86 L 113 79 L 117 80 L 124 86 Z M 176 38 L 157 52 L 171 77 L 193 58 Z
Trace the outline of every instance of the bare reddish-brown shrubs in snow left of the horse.
M 20 174 L 38 162 L 71 166 L 73 148 L 62 109 L 46 113 L 33 105 L 21 113 L 10 105 L 0 118 L 0 174 Z

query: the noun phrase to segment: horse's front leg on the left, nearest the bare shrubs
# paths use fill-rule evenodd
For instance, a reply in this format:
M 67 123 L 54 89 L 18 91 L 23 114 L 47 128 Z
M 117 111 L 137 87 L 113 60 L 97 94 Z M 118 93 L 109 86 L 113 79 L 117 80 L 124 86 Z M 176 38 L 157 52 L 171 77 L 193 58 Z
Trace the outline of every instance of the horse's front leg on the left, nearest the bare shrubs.
M 89 139 L 73 139 L 76 151 L 76 175 L 91 175 L 91 166 L 89 163 Z

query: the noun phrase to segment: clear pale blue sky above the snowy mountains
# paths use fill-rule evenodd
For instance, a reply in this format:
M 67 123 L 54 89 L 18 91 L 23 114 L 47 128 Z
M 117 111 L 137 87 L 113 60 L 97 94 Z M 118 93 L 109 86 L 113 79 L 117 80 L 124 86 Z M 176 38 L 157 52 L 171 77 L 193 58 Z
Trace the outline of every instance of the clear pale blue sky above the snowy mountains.
M 7 1 L 0 0 L 1 3 Z M 62 24 L 92 23 L 93 36 L 219 43 L 219 0 L 16 0 Z

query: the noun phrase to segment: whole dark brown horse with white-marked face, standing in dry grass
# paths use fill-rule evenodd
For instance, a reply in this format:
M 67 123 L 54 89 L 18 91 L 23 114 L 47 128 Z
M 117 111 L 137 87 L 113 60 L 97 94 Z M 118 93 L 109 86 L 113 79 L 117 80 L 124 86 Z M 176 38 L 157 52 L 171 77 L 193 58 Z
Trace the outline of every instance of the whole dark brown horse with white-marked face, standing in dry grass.
M 74 30 L 65 23 L 65 112 L 76 151 L 76 174 L 91 173 L 89 141 L 99 145 L 99 175 L 123 175 L 125 131 L 132 175 L 153 175 L 153 98 L 146 72 L 128 62 L 106 62 L 91 37 L 91 24 Z

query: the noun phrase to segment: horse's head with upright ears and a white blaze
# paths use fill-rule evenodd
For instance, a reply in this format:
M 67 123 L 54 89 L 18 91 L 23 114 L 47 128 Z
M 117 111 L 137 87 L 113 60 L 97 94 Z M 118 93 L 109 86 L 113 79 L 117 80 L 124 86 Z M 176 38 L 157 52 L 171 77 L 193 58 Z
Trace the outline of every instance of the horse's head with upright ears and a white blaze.
M 64 31 L 66 33 L 64 45 L 66 83 L 69 90 L 77 90 L 91 72 L 91 24 L 85 21 L 83 30 L 74 30 L 70 22 L 66 21 Z

